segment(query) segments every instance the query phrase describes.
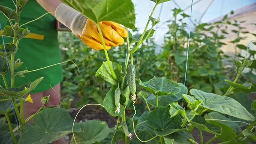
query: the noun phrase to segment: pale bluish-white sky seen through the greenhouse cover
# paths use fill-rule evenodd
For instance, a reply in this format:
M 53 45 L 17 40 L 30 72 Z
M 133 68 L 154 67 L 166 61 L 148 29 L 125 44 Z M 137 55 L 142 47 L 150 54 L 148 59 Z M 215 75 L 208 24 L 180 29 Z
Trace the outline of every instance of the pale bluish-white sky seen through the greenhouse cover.
M 154 2 L 150 0 L 132 0 L 135 4 L 135 13 L 136 13 L 136 27 L 140 29 L 142 33 L 144 26 L 148 20 L 148 14 L 151 13 L 151 10 L 154 7 Z M 195 4 L 192 8 L 192 19 L 199 20 L 203 11 L 207 8 L 212 0 L 201 0 L 199 3 Z M 184 9 L 191 4 L 191 0 L 175 0 L 175 2 Z M 193 2 L 197 2 L 197 0 L 193 0 Z M 215 18 L 222 16 L 226 13 L 229 13 L 231 10 L 237 10 L 241 7 L 245 7 L 249 4 L 256 3 L 256 0 L 213 0 L 209 9 L 203 16 L 201 22 L 206 23 Z M 162 10 L 161 10 L 162 7 Z M 167 26 L 164 24 L 167 20 L 172 20 L 172 11 L 171 9 L 178 8 L 173 1 L 168 1 L 161 4 L 155 10 L 153 17 L 160 16 L 160 23 L 158 24 L 158 31 L 155 36 L 155 41 L 161 45 L 163 42 L 164 34 L 167 32 Z M 160 14 L 161 11 L 161 14 Z M 190 15 L 190 8 L 185 10 L 185 13 Z M 185 20 L 187 23 L 188 19 Z

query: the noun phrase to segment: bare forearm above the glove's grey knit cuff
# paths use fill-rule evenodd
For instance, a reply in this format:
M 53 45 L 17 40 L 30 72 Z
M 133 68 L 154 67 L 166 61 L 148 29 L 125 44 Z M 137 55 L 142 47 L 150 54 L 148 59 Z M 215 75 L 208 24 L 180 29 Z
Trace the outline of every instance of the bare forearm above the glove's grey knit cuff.
M 61 3 L 60 0 L 36 0 L 46 11 L 55 16 L 55 10 Z

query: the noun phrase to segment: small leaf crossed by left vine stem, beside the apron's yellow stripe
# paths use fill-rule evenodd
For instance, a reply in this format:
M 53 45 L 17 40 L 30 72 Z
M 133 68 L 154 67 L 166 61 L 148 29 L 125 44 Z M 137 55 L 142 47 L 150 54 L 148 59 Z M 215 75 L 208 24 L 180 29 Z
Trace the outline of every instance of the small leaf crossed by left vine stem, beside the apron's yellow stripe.
M 17 39 L 21 39 L 24 36 L 28 35 L 30 33 L 30 30 L 28 28 L 23 29 L 23 28 L 18 28 L 17 30 Z M 14 31 L 11 26 L 5 26 L 3 29 L 3 36 L 8 36 L 8 37 L 13 37 L 14 36 Z

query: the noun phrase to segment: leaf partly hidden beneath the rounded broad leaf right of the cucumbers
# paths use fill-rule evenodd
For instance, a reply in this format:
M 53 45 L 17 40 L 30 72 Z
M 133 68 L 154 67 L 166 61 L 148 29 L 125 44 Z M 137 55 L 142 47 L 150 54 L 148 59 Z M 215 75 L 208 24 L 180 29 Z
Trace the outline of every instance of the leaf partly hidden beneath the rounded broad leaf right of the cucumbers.
M 174 101 L 178 101 L 181 98 L 183 98 L 182 94 L 183 94 L 183 90 L 184 90 L 184 85 L 182 83 L 179 83 L 181 90 L 179 93 L 174 94 L 174 95 L 161 95 L 158 97 L 158 106 L 164 106 L 167 107 L 169 104 L 173 103 Z M 187 94 L 188 90 L 185 87 L 185 94 Z M 148 103 L 153 106 L 156 107 L 156 97 L 154 95 L 150 95 L 147 98 Z

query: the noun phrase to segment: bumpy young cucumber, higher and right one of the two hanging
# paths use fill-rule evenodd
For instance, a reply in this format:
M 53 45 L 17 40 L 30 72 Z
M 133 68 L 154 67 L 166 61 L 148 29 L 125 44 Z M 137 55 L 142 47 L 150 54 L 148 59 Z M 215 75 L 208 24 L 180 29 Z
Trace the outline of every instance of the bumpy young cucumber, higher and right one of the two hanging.
M 128 75 L 128 86 L 130 89 L 131 94 L 135 94 L 136 92 L 136 82 L 135 82 L 135 65 L 131 64 L 127 68 L 127 75 Z

